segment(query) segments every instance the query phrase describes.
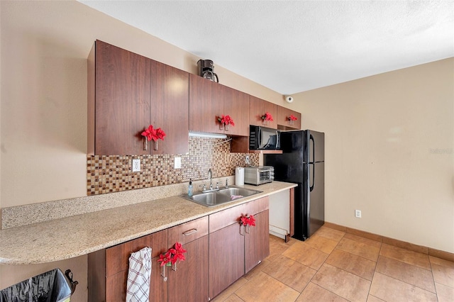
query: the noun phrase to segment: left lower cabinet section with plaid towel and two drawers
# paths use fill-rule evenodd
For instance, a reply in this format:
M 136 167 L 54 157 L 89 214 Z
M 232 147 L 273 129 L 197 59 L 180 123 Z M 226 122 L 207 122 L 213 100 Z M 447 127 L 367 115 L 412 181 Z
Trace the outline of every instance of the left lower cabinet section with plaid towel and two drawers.
M 157 260 L 175 242 L 186 259 L 165 279 Z M 143 247 L 152 248 L 150 301 L 208 301 L 208 216 L 89 254 L 89 301 L 126 301 L 129 257 Z

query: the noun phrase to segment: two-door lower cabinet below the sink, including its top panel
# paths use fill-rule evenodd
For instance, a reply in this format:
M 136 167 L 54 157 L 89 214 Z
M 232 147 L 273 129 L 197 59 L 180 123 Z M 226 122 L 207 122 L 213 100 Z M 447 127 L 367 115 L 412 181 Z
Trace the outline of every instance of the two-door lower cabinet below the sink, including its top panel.
M 268 208 L 268 197 L 264 197 L 209 216 L 210 298 L 270 255 Z M 255 226 L 240 225 L 240 217 L 250 215 L 255 218 Z

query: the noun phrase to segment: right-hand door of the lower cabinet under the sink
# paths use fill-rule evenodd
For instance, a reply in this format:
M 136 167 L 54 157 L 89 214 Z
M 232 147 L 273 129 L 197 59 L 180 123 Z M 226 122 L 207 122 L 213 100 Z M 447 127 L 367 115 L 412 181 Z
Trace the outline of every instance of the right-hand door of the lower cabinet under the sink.
M 249 233 L 245 233 L 245 273 L 270 255 L 269 212 L 256 214 L 255 227 L 249 227 Z

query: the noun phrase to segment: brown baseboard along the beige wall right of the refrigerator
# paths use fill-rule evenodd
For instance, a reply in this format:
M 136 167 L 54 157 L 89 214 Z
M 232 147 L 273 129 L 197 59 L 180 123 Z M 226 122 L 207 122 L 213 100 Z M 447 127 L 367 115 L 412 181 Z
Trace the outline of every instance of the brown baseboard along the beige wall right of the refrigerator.
M 387 245 L 394 245 L 395 247 L 402 247 L 406 250 L 420 252 L 422 254 L 426 254 L 429 256 L 433 256 L 433 257 L 437 257 L 437 258 L 441 258 L 441 259 L 445 259 L 445 260 L 454 262 L 454 254 L 450 253 L 450 252 L 436 250 L 431 247 L 425 247 L 423 245 L 415 245 L 414 243 L 411 243 L 411 242 L 405 242 L 402 240 L 397 240 L 394 238 L 389 238 L 389 237 L 385 237 L 382 235 L 365 232 L 363 230 L 357 230 L 355 228 L 348 228 L 343 225 L 336 225 L 336 223 L 325 222 L 325 226 L 328 228 L 333 228 L 334 230 L 340 230 L 345 233 L 358 235 L 360 237 L 365 237 L 365 238 L 368 238 L 371 240 L 386 243 Z

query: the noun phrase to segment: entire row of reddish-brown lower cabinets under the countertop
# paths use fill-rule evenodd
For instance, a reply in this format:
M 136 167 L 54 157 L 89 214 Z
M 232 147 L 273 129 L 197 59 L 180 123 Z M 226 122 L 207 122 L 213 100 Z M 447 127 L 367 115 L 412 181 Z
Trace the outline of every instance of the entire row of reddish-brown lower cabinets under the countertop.
M 209 301 L 270 255 L 268 197 L 176 225 L 88 255 L 89 301 L 126 301 L 129 257 L 152 248 L 150 301 Z M 240 225 L 241 216 L 255 226 Z M 184 261 L 157 262 L 179 242 Z

